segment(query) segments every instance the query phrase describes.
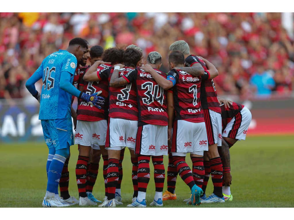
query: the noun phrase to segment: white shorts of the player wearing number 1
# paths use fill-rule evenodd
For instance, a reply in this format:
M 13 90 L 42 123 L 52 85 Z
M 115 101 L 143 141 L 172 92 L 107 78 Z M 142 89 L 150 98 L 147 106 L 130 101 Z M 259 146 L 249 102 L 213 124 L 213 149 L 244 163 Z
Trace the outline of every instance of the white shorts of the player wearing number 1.
M 208 150 L 208 141 L 204 122 L 174 121 L 171 152 L 195 153 L 205 150 Z

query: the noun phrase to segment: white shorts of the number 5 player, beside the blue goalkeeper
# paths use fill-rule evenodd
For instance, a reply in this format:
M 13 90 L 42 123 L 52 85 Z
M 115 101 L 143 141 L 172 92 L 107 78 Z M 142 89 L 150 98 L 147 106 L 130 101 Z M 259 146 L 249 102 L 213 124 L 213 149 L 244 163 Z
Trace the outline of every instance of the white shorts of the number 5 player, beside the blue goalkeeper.
M 75 144 L 93 146 L 105 145 L 107 121 L 77 121 Z M 96 147 L 93 149 L 97 149 Z M 99 148 L 100 149 L 100 148 Z

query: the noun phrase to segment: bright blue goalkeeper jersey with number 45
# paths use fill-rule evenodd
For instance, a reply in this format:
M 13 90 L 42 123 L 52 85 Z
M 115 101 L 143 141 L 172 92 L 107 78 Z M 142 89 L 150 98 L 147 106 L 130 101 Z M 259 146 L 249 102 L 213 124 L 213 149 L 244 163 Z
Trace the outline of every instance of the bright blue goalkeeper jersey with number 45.
M 72 95 L 59 87 L 60 76 L 63 71 L 71 74 L 74 79 L 77 60 L 67 50 L 56 51 L 47 56 L 36 70 L 42 74 L 42 91 L 39 119 L 64 119 L 71 111 Z

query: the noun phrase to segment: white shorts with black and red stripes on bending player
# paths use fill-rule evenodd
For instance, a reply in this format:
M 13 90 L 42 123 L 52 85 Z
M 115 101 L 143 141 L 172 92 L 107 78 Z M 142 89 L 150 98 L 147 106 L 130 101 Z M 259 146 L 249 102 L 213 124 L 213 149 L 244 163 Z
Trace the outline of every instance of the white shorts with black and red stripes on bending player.
M 251 122 L 251 112 L 244 108 L 231 119 L 223 130 L 223 137 L 245 140 L 249 124 Z

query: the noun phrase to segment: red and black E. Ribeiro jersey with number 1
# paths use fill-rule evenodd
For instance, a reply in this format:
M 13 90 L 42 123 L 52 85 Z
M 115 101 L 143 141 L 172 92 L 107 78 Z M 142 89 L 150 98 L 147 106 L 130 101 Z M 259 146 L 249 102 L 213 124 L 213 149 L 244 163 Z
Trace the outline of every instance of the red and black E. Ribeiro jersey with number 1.
M 168 80 L 176 79 L 176 84 L 173 86 L 175 120 L 204 122 L 200 85 L 201 81 L 208 77 L 208 74 L 203 77 L 194 77 L 181 69 L 172 69 L 168 72 Z

